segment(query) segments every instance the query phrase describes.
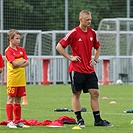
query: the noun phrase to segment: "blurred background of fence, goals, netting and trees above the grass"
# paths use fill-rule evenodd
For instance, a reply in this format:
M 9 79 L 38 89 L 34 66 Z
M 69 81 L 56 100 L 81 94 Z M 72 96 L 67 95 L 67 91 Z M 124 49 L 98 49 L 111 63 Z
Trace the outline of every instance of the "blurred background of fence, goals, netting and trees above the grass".
M 91 27 L 101 44 L 95 68 L 99 83 L 112 84 L 118 79 L 132 83 L 133 0 L 0 0 L 0 52 L 4 57 L 8 30 L 17 29 L 22 33 L 20 46 L 26 49 L 31 64 L 27 83 L 69 83 L 69 61 L 55 46 L 79 25 L 81 10 L 92 13 Z M 66 50 L 71 54 L 69 47 Z M 6 67 L 0 81 L 6 83 Z

